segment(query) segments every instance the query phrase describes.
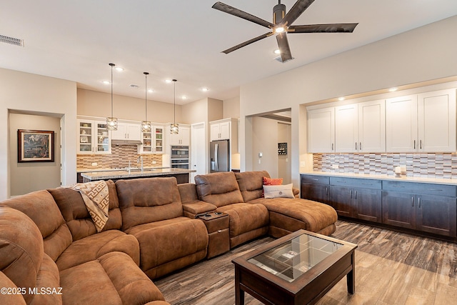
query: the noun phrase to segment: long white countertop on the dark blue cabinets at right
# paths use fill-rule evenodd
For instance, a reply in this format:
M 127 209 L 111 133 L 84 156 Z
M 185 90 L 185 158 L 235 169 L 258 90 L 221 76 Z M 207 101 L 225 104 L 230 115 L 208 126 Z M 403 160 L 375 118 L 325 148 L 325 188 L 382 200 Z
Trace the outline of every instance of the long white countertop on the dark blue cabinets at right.
M 430 184 L 448 184 L 457 186 L 457 179 L 446 178 L 425 178 L 425 177 L 410 177 L 393 175 L 372 175 L 372 174 L 354 174 L 354 173 L 336 173 L 331 171 L 302 171 L 303 175 L 320 175 L 320 176 L 334 176 L 346 178 L 360 178 L 360 179 L 378 179 L 378 180 L 391 180 L 391 181 L 404 181 L 404 182 L 420 182 Z

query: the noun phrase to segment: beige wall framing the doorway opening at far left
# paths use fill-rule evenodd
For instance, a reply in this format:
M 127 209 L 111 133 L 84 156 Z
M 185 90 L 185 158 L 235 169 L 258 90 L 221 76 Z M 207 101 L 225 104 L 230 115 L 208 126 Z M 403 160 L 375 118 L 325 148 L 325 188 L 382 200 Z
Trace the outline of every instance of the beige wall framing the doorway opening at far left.
M 0 200 L 11 194 L 9 114 L 39 114 L 61 119 L 61 181 L 76 182 L 76 83 L 0 69 Z M 36 176 L 35 178 L 41 178 Z

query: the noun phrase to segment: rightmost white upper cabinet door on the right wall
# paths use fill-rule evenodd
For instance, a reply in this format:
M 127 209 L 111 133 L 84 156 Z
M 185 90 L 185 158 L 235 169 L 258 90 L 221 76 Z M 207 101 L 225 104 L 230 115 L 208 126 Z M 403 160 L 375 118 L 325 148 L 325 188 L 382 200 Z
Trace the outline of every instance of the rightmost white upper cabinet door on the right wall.
M 456 151 L 456 90 L 418 94 L 418 150 Z

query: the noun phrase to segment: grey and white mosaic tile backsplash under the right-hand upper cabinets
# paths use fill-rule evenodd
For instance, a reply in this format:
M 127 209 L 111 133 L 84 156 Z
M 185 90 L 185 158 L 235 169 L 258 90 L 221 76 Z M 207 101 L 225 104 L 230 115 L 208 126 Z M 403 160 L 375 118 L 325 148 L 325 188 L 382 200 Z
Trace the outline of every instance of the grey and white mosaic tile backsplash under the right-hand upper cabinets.
M 313 154 L 314 171 L 393 176 L 395 166 L 406 166 L 411 177 L 457 178 L 457 153 Z

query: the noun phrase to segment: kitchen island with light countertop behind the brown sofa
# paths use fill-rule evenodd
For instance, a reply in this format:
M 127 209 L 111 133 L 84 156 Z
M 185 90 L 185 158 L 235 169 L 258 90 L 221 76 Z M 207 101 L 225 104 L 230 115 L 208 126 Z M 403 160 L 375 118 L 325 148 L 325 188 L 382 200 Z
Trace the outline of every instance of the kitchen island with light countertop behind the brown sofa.
M 136 178 L 152 178 L 152 177 L 175 177 L 179 184 L 189 183 L 189 174 L 195 172 L 194 169 L 144 169 L 131 170 L 121 169 L 118 171 L 91 171 L 83 172 L 81 176 L 83 182 L 96 180 L 121 180 L 121 179 L 136 179 Z

